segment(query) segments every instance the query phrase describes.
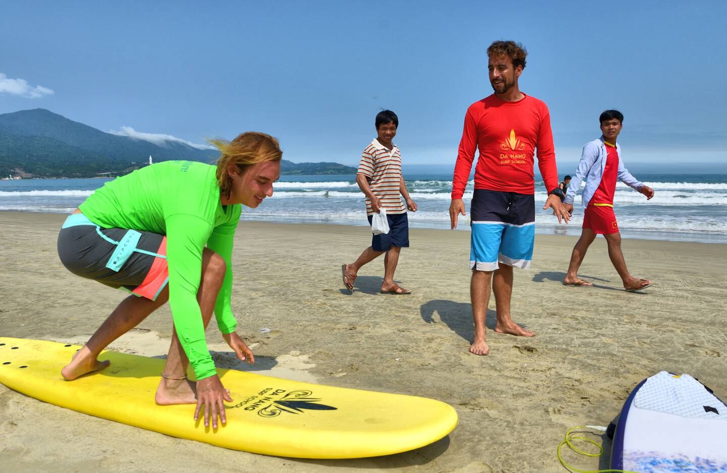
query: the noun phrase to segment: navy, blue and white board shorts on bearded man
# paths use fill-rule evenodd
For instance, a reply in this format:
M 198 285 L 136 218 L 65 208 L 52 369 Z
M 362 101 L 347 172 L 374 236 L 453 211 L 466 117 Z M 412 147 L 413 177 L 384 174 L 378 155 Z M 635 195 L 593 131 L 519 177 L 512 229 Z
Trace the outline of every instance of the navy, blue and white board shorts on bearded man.
M 523 269 L 530 266 L 535 195 L 475 189 L 470 218 L 470 270 L 494 271 L 498 263 Z

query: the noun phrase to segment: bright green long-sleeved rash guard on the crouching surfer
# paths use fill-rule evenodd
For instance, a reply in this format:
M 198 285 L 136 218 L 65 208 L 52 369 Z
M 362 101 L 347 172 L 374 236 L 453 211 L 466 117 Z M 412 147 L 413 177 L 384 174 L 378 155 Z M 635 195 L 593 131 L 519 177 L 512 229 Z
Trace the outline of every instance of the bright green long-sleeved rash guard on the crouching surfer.
M 79 209 L 105 228 L 125 228 L 166 235 L 169 306 L 174 328 L 197 379 L 217 373 L 209 355 L 197 291 L 206 245 L 227 263 L 214 304 L 222 333 L 235 331 L 230 307 L 233 238 L 239 204 L 222 206 L 217 168 L 193 161 L 165 161 L 118 177 L 97 189 Z

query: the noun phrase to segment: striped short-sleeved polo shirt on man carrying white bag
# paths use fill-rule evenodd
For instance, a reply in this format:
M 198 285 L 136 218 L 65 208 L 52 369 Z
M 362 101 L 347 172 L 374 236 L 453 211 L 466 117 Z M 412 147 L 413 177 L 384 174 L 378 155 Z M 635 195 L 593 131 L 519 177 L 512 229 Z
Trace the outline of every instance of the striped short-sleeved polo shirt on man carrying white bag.
M 406 207 L 401 201 L 401 152 L 394 145 L 392 150 L 375 139 L 361 155 L 358 174 L 364 174 L 371 187 L 371 193 L 381 201 L 387 214 L 405 214 Z M 373 215 L 371 199 L 366 197 L 366 215 Z

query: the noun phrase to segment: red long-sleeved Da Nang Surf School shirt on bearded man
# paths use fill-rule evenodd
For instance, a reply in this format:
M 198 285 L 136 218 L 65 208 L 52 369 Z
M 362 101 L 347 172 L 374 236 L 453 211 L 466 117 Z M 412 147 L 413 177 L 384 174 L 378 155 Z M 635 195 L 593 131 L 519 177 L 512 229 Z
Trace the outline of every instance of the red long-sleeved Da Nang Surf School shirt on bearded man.
M 505 102 L 492 94 L 470 105 L 454 165 L 453 199 L 465 193 L 477 148 L 480 156 L 475 167 L 475 189 L 534 194 L 536 148 L 546 189 L 558 187 L 550 112 L 535 97 L 526 95 L 518 102 Z

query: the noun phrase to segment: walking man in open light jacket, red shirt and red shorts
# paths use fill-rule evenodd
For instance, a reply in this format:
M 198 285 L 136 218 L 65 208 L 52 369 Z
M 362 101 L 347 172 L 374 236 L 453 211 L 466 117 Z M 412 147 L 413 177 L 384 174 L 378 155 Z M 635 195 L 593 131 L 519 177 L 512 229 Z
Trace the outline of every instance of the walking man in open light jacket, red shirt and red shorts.
M 578 163 L 575 179 L 563 204 L 566 209 L 573 212 L 573 201 L 585 180 L 582 201 L 583 208 L 583 230 L 581 238 L 571 254 L 571 264 L 568 267 L 563 284 L 566 286 L 593 287 L 593 283 L 582 280 L 578 277 L 578 269 L 581 267 L 586 251 L 596 235 L 603 235 L 608 244 L 608 257 L 614 264 L 616 272 L 619 273 L 624 283 L 624 289 L 629 292 L 640 291 L 653 286 L 648 279 L 634 278 L 626 268 L 624 254 L 621 251 L 621 234 L 619 225 L 616 223 L 614 214 L 614 193 L 616 193 L 616 179 L 625 185 L 633 187 L 639 193 L 646 195 L 646 200 L 654 197 L 654 190 L 643 182 L 638 181 L 624 166 L 621 153 L 621 146 L 616 138 L 621 133 L 624 116 L 619 110 L 606 110 L 598 118 L 601 121 L 601 135 L 598 140 L 588 142 L 583 147 L 581 161 Z

